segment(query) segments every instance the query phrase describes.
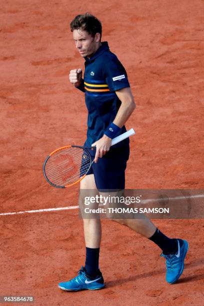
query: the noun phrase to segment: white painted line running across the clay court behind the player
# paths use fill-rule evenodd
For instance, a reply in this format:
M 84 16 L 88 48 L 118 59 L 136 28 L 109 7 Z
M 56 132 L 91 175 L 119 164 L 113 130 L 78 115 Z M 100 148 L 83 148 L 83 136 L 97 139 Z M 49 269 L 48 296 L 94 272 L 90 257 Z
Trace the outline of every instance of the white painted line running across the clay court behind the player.
M 186 198 L 200 198 L 204 197 L 204 194 L 196 194 L 189 196 L 175 196 L 175 197 L 163 197 L 163 198 L 149 198 L 146 200 L 141 200 L 142 204 L 149 202 L 159 202 L 161 200 L 176 200 L 176 199 L 186 199 Z M 102 205 L 102 204 L 101 204 Z M 75 206 L 65 206 L 65 207 L 56 207 L 56 208 L 45 208 L 45 209 L 35 209 L 35 210 L 24 210 L 24 211 L 16 211 L 16 212 L 1 212 L 0 215 L 9 215 L 9 214 L 22 214 L 22 213 L 32 213 L 32 212 L 46 212 L 46 211 L 56 211 L 56 210 L 69 210 L 76 209 L 78 205 Z

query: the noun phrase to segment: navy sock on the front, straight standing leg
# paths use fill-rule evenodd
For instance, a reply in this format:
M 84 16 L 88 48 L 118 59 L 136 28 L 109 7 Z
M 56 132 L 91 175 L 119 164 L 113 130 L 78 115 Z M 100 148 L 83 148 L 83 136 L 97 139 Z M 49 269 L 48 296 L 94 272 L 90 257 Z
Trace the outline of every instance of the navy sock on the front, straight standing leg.
M 95 276 L 98 272 L 98 260 L 100 248 L 86 247 L 85 269 L 88 275 Z

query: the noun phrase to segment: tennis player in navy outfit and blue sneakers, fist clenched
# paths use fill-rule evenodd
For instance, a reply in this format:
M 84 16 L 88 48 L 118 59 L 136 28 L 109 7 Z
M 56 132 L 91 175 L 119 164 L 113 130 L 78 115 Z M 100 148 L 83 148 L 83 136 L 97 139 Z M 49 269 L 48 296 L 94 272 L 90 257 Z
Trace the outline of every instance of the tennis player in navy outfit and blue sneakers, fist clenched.
M 89 13 L 77 15 L 70 23 L 75 47 L 85 59 L 85 70 L 70 70 L 69 79 L 75 88 L 85 93 L 88 110 L 85 146 L 96 146 L 94 162 L 80 181 L 80 189 L 124 189 L 125 168 L 129 156 L 129 139 L 110 148 L 111 139 L 125 132 L 125 122 L 135 108 L 125 68 L 108 47 L 101 42 L 101 22 Z M 148 219 L 121 221 L 150 239 L 162 250 L 166 260 L 166 281 L 174 283 L 181 275 L 188 243 L 183 239 L 169 238 Z M 78 275 L 60 282 L 59 288 L 67 291 L 100 289 L 104 287 L 98 267 L 101 239 L 100 219 L 83 219 L 86 258 Z

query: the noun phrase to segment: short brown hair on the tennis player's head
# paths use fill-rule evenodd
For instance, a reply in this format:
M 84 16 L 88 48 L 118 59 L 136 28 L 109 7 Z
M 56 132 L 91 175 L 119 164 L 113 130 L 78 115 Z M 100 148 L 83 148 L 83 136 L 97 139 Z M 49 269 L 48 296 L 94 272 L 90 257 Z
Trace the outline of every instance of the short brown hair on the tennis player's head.
M 100 38 L 102 34 L 102 25 L 100 20 L 95 16 L 86 12 L 83 15 L 77 15 L 70 23 L 71 32 L 74 29 L 85 30 L 91 36 L 95 36 L 96 33 L 100 33 Z

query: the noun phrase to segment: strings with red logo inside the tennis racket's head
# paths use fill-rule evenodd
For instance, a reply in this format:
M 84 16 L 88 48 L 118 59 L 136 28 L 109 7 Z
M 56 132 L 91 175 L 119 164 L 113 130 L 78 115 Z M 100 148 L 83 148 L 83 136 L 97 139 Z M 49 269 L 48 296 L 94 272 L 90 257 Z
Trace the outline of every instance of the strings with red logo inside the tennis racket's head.
M 47 179 L 57 185 L 70 185 L 87 173 L 91 164 L 89 154 L 80 147 L 67 147 L 51 155 L 44 167 Z

